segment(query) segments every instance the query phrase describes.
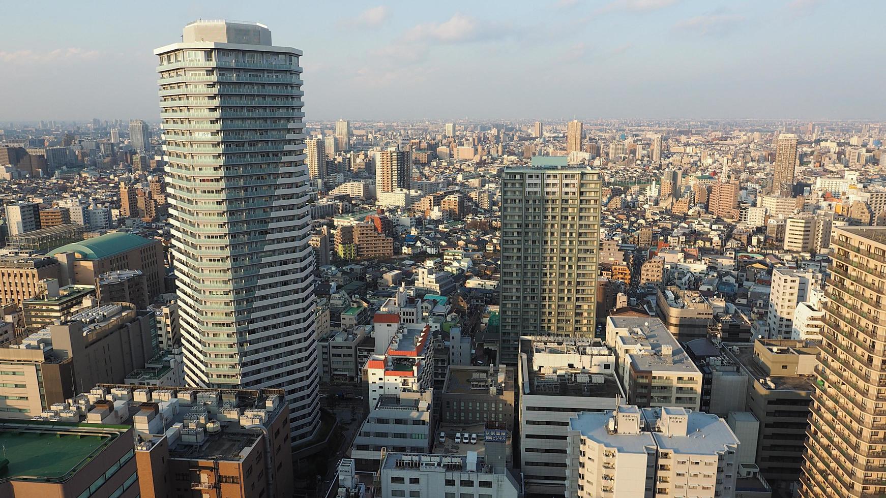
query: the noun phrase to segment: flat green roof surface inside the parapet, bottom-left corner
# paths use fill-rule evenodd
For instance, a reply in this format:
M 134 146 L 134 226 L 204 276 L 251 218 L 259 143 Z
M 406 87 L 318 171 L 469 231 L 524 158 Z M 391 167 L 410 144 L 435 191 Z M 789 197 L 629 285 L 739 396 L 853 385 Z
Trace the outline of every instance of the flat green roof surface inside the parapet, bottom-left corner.
M 0 448 L 9 460 L 7 479 L 63 479 L 96 456 L 110 433 L 77 433 L 58 430 L 8 430 L 0 428 Z

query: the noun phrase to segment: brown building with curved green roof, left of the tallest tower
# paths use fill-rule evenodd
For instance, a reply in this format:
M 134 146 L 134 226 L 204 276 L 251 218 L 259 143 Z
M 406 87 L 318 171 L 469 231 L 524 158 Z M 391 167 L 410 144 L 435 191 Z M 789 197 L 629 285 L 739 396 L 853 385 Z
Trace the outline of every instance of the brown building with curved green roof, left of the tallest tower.
M 62 282 L 94 286 L 106 272 L 140 270 L 148 287 L 148 299 L 166 286 L 163 242 L 136 234 L 112 232 L 52 249 L 48 256 L 61 263 Z

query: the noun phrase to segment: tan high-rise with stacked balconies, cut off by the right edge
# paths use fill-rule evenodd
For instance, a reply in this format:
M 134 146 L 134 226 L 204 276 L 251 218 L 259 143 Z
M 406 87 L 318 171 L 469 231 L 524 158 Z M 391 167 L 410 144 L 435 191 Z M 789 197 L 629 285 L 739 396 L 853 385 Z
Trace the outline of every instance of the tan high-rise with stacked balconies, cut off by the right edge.
M 886 493 L 886 228 L 835 227 L 803 497 Z

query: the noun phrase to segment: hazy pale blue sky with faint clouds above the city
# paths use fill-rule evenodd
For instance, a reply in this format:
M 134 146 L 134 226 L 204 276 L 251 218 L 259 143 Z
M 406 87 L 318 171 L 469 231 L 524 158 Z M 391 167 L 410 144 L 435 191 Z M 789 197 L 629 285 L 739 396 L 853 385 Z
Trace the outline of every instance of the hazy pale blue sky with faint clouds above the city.
M 306 120 L 883 119 L 881 0 L 4 2 L 0 122 L 159 120 L 194 19 L 304 51 Z M 17 19 L 17 20 L 16 20 Z

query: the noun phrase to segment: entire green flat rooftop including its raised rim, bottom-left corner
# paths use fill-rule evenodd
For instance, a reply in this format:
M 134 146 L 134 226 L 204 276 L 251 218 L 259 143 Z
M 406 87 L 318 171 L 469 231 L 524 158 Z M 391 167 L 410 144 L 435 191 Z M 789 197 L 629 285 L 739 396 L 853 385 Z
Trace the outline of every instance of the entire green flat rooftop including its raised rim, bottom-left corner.
M 0 419 L 0 446 L 9 460 L 0 482 L 67 479 L 127 429 Z

